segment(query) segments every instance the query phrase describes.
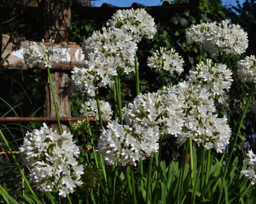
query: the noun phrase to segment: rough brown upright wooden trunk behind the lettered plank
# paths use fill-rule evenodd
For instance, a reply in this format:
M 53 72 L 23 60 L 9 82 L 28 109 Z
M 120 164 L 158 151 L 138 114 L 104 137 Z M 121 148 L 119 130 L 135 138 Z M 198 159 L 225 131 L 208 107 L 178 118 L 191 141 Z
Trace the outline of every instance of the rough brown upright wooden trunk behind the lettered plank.
M 54 39 L 58 42 L 70 41 L 70 0 L 41 0 L 38 2 L 41 13 L 41 31 L 46 42 Z M 58 106 L 60 117 L 70 117 L 70 101 L 67 96 L 67 88 L 69 87 L 69 71 L 56 70 L 51 68 L 51 79 L 54 87 L 56 103 Z M 54 100 L 52 98 L 51 87 L 49 84 L 47 70 L 42 70 L 41 75 L 42 87 L 42 106 L 43 116 L 55 117 Z M 58 129 L 58 124 L 48 123 L 53 130 Z M 62 132 L 70 132 L 70 124 L 62 123 Z

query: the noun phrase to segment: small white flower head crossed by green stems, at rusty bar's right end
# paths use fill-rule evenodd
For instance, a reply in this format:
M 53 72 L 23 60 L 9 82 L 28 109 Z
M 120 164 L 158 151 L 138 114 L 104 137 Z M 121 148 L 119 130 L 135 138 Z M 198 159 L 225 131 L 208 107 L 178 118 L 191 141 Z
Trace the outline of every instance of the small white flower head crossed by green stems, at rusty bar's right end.
M 96 100 L 89 100 L 86 103 L 86 108 L 87 108 L 87 114 L 89 117 L 94 117 L 95 119 L 99 119 L 99 114 L 98 114 L 98 107 L 97 107 L 97 101 Z M 108 102 L 105 101 L 99 101 L 99 106 L 101 107 L 101 116 L 104 121 L 110 121 L 111 116 L 113 114 L 113 111 L 111 111 L 111 106 Z M 86 116 L 86 112 L 84 111 L 84 104 L 80 105 L 80 114 L 82 116 Z

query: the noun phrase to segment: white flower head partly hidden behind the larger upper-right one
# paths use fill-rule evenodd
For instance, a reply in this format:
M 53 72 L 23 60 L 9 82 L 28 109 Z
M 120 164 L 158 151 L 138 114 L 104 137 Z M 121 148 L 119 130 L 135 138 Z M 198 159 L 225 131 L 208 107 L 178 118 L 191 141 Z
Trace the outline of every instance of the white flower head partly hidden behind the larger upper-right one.
M 200 43 L 204 41 L 205 37 L 209 30 L 216 29 L 216 21 L 213 23 L 201 23 L 198 25 L 190 25 L 189 31 L 186 32 L 186 40 L 187 43 L 190 45 L 191 43 Z

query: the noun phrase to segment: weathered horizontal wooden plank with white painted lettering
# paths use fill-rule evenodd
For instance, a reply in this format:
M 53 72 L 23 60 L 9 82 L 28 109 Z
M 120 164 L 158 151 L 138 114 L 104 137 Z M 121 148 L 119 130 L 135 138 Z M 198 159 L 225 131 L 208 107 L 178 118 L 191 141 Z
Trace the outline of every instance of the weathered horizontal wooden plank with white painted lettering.
M 37 42 L 40 44 L 40 42 Z M 59 42 L 53 43 L 52 46 L 59 45 L 63 52 L 67 55 L 66 59 L 62 59 L 60 63 L 54 63 L 51 69 L 55 70 L 72 70 L 74 66 L 80 67 L 79 63 L 83 63 L 84 54 L 82 53 L 82 44 L 75 42 Z M 2 34 L 1 46 L 1 69 L 17 69 L 25 70 L 23 54 L 26 48 L 33 46 L 33 41 L 26 41 L 23 35 Z M 49 42 L 45 42 L 45 46 L 49 46 Z M 44 65 L 38 64 L 37 68 L 45 69 Z

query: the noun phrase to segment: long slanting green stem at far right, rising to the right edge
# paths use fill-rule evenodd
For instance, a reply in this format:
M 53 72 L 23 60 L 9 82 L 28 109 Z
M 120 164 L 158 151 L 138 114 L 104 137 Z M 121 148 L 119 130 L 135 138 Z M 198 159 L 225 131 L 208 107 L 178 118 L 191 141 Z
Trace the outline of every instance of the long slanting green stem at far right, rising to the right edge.
M 226 163 L 226 166 L 225 166 L 225 170 L 224 170 L 224 176 L 223 176 L 223 180 L 226 179 L 226 173 L 227 173 L 227 167 L 229 166 L 229 162 L 230 162 L 230 159 L 232 157 L 232 153 L 234 151 L 234 146 L 236 145 L 236 141 L 237 141 L 237 138 L 239 136 L 239 133 L 240 133 L 240 129 L 241 129 L 241 126 L 243 124 L 243 120 L 244 120 L 244 115 L 246 115 L 246 111 L 248 109 L 248 105 L 250 104 L 250 101 L 251 101 L 251 97 L 253 97 L 253 93 L 254 93 L 254 90 L 255 90 L 255 86 L 256 86 L 256 83 L 253 83 L 253 87 L 251 88 L 251 91 L 250 91 L 250 94 L 248 96 L 248 99 L 246 101 L 246 105 L 244 107 L 244 110 L 241 114 L 241 117 L 240 117 L 240 121 L 239 121 L 239 126 L 237 128 L 237 132 L 236 132 L 236 137 L 234 138 L 234 143 L 232 145 L 232 148 L 231 148 L 231 151 L 229 153 L 229 157 L 227 158 L 227 163 Z M 218 200 L 218 204 L 219 202 L 221 201 L 221 195 L 222 195 L 222 191 L 223 191 L 223 186 L 224 186 L 224 182 L 222 182 L 222 185 L 221 185 L 221 193 L 219 194 L 219 200 Z

